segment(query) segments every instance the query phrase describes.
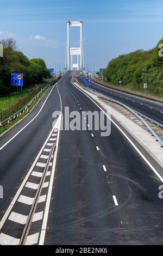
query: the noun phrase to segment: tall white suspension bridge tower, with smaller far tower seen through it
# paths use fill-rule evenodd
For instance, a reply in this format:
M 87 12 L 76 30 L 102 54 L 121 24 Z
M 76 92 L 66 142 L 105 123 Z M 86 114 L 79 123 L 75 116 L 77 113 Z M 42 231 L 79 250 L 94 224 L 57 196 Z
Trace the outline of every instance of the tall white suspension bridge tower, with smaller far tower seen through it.
M 70 27 L 80 27 L 80 47 L 70 47 Z M 73 63 L 73 56 L 77 56 L 77 63 Z M 79 60 L 80 58 L 80 60 Z M 66 70 L 83 70 L 83 21 L 67 21 L 67 44 L 66 44 Z

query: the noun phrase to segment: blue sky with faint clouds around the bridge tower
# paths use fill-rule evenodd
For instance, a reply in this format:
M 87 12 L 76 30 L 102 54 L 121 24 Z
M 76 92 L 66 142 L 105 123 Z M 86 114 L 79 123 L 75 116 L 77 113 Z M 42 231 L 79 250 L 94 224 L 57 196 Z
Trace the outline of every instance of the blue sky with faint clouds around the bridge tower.
M 66 21 L 83 20 L 84 64 L 105 68 L 120 54 L 149 50 L 162 38 L 162 0 L 0 0 L 0 39 L 14 38 L 28 58 L 64 67 Z M 79 46 L 79 28 L 70 31 Z M 91 65 L 93 69 L 93 64 Z

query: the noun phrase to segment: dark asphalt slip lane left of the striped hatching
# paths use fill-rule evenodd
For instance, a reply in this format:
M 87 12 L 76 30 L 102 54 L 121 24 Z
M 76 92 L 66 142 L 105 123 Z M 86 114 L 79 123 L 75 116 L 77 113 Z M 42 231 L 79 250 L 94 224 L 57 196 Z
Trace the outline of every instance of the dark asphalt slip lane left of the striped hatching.
M 64 78 L 62 79 L 64 80 Z M 48 92 L 42 97 L 32 113 L 1 137 L 1 147 L 35 117 L 45 102 L 47 95 Z M 0 217 L 3 216 L 3 211 L 10 204 L 11 198 L 52 130 L 53 112 L 59 110 L 59 95 L 54 86 L 40 114 L 0 151 L 0 185 L 3 186 L 3 199 L 0 199 Z

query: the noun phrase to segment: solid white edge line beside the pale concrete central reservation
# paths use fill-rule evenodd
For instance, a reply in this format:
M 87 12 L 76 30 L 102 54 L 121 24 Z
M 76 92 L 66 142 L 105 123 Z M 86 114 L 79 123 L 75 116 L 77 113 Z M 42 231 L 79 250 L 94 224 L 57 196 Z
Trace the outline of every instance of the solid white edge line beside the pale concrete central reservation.
M 71 80 L 72 83 L 72 80 Z M 112 121 L 112 123 L 117 127 L 117 129 L 124 135 L 124 137 L 127 138 L 127 140 L 129 141 L 129 143 L 134 147 L 134 149 L 137 151 L 137 153 L 139 153 L 139 155 L 142 157 L 143 160 L 145 160 L 145 162 L 148 164 L 148 166 L 153 170 L 153 172 L 158 176 L 158 178 L 161 180 L 161 182 L 163 183 L 163 178 L 161 177 L 161 175 L 156 171 L 156 169 L 152 166 L 152 164 L 146 159 L 146 157 L 141 153 L 141 151 L 136 147 L 136 145 L 131 141 L 131 139 L 126 135 L 126 133 L 124 133 L 122 131 L 122 129 L 115 123 L 115 121 L 113 121 L 111 119 L 111 117 L 109 117 L 108 114 L 105 113 L 105 111 L 103 111 L 103 109 L 94 101 L 91 99 L 91 97 L 89 95 L 87 95 L 86 93 L 84 93 L 81 89 L 79 89 L 77 86 L 75 86 L 73 83 L 72 85 L 74 87 L 76 87 L 78 90 L 80 90 L 80 92 L 82 92 L 83 94 L 85 94 L 87 97 L 89 97 L 89 99 L 95 103 L 95 105 L 101 109 L 101 111 L 106 115 L 106 117 L 108 117 L 110 119 L 110 121 Z

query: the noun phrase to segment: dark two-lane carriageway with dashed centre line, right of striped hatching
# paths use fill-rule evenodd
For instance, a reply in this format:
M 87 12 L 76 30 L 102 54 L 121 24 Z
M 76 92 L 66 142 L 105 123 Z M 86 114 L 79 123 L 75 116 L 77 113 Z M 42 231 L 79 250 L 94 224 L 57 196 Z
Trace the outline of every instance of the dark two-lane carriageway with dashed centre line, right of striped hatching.
M 65 106 L 99 112 L 72 86 L 71 76 L 59 91 L 63 114 Z M 159 185 L 114 125 L 109 137 L 95 130 L 61 131 L 45 244 L 162 244 Z

